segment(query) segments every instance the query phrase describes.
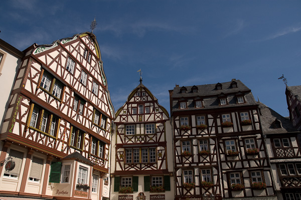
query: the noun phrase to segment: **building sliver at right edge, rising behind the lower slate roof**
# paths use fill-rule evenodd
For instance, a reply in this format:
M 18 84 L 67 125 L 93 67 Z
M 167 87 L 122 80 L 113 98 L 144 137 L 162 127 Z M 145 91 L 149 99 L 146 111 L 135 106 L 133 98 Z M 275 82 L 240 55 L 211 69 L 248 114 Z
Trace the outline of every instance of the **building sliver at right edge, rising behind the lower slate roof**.
M 287 86 L 285 90 L 289 119 L 301 131 L 301 85 Z

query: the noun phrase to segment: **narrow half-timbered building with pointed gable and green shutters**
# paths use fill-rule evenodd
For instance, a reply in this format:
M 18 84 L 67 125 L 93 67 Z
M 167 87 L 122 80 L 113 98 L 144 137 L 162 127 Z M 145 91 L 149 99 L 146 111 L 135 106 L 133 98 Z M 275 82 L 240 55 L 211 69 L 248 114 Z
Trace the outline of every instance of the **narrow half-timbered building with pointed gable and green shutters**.
M 140 80 L 115 116 L 111 199 L 174 199 L 167 110 Z

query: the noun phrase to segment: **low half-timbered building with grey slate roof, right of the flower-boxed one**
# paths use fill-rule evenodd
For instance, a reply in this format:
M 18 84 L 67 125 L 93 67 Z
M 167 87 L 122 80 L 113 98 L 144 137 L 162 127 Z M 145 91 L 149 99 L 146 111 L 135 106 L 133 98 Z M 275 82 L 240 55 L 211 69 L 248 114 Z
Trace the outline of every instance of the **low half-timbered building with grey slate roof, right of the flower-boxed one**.
M 259 113 L 278 199 L 301 198 L 300 132 L 288 118 L 260 103 Z

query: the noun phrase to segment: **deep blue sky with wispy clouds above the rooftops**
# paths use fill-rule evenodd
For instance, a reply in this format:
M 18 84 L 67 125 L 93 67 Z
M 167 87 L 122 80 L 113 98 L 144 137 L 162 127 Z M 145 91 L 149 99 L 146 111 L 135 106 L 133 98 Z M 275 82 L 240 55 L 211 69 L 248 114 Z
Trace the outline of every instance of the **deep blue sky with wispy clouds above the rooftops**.
M 143 84 L 170 112 L 169 90 L 241 80 L 288 116 L 285 85 L 301 85 L 301 1 L 38 1 L 0 7 L 0 38 L 23 51 L 90 31 L 115 110 Z

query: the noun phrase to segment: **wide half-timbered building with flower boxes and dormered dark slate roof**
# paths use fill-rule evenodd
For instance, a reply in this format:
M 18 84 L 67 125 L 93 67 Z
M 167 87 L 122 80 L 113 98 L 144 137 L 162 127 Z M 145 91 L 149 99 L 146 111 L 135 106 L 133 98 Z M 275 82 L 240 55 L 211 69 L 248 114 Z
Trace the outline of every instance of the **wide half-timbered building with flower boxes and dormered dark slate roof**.
M 275 198 L 258 103 L 241 81 L 170 90 L 175 199 Z

